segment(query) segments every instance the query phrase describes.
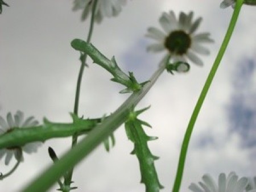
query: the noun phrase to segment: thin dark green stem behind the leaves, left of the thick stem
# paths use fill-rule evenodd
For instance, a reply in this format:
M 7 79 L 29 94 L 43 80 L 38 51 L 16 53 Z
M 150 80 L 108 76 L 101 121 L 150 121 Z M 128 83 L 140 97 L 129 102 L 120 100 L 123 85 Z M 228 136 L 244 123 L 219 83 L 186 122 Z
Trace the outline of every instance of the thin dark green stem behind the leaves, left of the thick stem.
M 87 36 L 87 40 L 86 40 L 87 43 L 90 43 L 90 39 L 92 38 L 92 34 L 93 34 L 94 15 L 95 15 L 97 1 L 98 0 L 93 2 L 92 16 L 90 18 L 90 28 L 89 28 L 89 32 L 88 32 L 88 36 Z M 81 53 L 81 57 L 80 57 L 81 66 L 80 66 L 80 70 L 79 70 L 79 76 L 77 78 L 75 105 L 74 105 L 74 111 L 73 111 L 75 115 L 78 115 L 78 110 L 79 110 L 79 97 L 80 97 L 81 81 L 82 81 L 82 74 L 84 73 L 84 67 L 86 65 L 86 59 L 87 59 L 87 55 L 84 53 Z M 72 136 L 72 148 L 77 144 L 77 137 L 78 137 L 77 134 Z M 72 174 L 73 174 L 73 168 L 67 174 L 67 177 L 65 177 L 65 181 L 64 181 L 65 185 L 71 184 Z

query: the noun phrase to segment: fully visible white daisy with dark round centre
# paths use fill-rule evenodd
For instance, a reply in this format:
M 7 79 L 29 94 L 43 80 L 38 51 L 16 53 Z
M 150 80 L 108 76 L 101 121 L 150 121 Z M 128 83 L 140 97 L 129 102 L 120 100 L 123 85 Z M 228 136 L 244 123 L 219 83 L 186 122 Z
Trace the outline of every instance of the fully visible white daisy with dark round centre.
M 155 27 L 148 28 L 146 36 L 158 42 L 148 45 L 147 51 L 167 51 L 167 55 L 170 55 L 174 62 L 187 62 L 189 59 L 202 66 L 203 61 L 197 57 L 196 53 L 208 55 L 209 50 L 201 43 L 212 43 L 213 40 L 210 39 L 209 33 L 195 34 L 202 18 L 192 20 L 192 11 L 188 14 L 180 12 L 179 18 L 176 18 L 174 11 L 163 12 L 159 22 L 164 32 Z

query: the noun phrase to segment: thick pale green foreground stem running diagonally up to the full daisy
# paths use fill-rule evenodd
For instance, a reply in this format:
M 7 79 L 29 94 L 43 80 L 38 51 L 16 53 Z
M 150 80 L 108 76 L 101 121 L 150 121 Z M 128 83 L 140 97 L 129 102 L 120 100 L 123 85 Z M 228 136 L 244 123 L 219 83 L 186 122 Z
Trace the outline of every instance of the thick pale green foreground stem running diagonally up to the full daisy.
M 170 57 L 163 60 L 164 64 L 168 62 Z M 65 153 L 55 164 L 51 165 L 41 176 L 36 178 L 34 182 L 22 190 L 23 192 L 43 192 L 47 191 L 53 183 L 63 176 L 67 170 L 71 169 L 82 158 L 89 155 L 98 145 L 102 143 L 111 133 L 113 133 L 129 116 L 132 107 L 136 106 L 139 101 L 146 95 L 150 88 L 154 85 L 160 74 L 163 73 L 166 65 L 160 65 L 158 70 L 150 78 L 150 82 L 143 88 L 133 93 L 109 118 L 106 118 L 102 123 L 98 124 L 89 134 L 80 141 L 71 151 Z

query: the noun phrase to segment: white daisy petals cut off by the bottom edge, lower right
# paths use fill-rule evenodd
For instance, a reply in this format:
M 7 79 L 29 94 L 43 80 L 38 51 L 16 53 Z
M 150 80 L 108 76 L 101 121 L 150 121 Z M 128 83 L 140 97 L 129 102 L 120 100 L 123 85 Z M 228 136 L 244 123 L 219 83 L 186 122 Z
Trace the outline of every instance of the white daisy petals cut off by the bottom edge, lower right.
M 249 179 L 242 177 L 238 180 L 236 173 L 229 173 L 226 177 L 225 173 L 221 173 L 218 176 L 218 184 L 214 182 L 213 178 L 209 174 L 205 174 L 203 182 L 199 182 L 199 185 L 191 183 L 188 187 L 193 192 L 255 192 L 256 189 L 253 186 L 249 186 Z M 255 183 L 254 183 L 255 184 Z

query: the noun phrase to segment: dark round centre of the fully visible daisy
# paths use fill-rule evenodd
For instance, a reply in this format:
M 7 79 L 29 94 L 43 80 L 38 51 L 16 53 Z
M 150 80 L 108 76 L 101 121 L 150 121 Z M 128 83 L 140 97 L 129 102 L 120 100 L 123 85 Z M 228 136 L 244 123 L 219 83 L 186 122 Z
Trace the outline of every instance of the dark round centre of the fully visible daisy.
M 191 37 L 182 30 L 172 31 L 171 34 L 166 37 L 164 46 L 170 53 L 184 55 L 191 46 Z

